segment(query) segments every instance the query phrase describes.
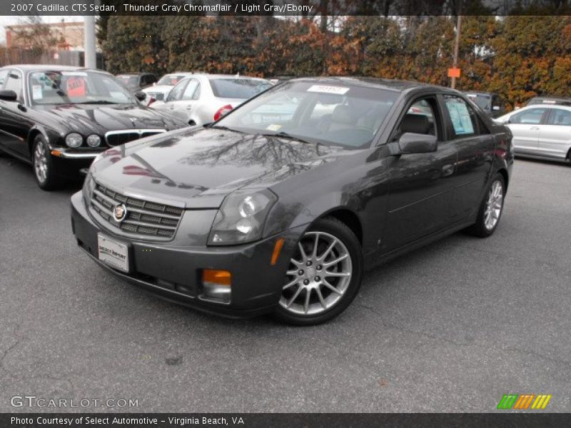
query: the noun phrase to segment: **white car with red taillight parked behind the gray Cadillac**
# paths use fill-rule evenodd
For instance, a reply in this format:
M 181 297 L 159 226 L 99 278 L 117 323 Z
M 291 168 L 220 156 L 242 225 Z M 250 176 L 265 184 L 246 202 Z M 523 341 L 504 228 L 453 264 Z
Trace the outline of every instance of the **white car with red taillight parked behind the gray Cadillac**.
M 183 78 L 171 89 L 165 102 L 153 103 L 153 108 L 191 126 L 203 125 L 218 120 L 271 86 L 263 78 L 197 73 Z

